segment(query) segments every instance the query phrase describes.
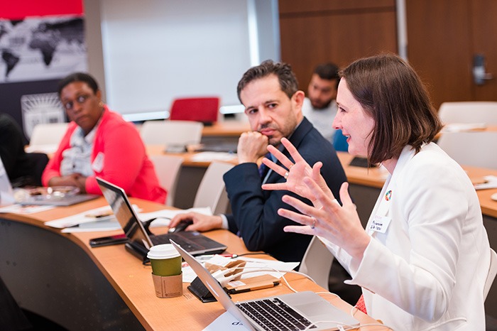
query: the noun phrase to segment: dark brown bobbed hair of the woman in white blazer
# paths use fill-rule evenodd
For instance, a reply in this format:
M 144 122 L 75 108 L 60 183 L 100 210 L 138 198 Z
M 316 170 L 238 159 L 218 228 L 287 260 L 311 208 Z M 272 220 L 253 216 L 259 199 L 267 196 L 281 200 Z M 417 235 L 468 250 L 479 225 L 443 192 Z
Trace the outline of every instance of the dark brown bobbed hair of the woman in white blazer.
M 375 121 L 368 146 L 370 163 L 398 158 L 407 145 L 417 153 L 442 129 L 420 77 L 397 55 L 356 60 L 340 76 Z

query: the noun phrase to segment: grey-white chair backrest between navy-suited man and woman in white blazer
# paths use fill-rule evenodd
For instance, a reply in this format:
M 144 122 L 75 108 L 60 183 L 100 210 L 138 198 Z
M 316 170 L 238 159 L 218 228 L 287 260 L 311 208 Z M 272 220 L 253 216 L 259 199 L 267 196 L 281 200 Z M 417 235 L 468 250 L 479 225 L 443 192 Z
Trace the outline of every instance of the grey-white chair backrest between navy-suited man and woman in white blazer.
M 333 259 L 332 252 L 314 236 L 300 262 L 299 271 L 310 276 L 317 285 L 328 291 L 329 271 L 332 269 Z

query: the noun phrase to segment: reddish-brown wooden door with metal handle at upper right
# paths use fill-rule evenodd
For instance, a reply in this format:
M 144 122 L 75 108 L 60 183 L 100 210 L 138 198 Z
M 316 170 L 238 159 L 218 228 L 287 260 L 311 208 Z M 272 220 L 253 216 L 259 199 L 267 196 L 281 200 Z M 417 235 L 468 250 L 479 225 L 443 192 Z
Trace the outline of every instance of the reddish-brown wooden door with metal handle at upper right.
M 435 107 L 446 101 L 497 100 L 497 80 L 476 85 L 474 55 L 497 74 L 495 0 L 406 0 L 408 59 Z

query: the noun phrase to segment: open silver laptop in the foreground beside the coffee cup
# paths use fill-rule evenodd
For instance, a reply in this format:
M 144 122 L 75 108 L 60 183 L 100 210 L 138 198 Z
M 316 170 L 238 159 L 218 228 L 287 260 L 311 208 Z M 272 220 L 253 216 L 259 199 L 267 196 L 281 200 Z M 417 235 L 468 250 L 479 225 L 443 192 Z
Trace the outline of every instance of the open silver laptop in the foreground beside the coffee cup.
M 359 321 L 349 313 L 336 308 L 312 291 L 235 303 L 199 261 L 176 242 L 171 241 L 171 244 L 197 273 L 214 298 L 249 330 L 304 330 L 306 327 L 310 330 L 339 330 L 338 325 L 345 329 L 359 325 Z M 313 323 L 316 324 L 312 325 Z

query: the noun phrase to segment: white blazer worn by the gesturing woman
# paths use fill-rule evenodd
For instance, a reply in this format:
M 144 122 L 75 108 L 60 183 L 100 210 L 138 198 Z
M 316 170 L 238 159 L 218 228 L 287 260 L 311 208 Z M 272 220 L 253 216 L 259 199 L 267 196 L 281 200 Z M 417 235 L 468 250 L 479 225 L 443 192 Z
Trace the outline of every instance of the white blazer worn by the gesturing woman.
M 490 246 L 476 191 L 435 143 L 406 146 L 376 201 L 361 261 L 324 240 L 393 330 L 485 330 Z

